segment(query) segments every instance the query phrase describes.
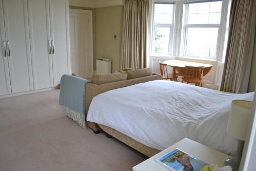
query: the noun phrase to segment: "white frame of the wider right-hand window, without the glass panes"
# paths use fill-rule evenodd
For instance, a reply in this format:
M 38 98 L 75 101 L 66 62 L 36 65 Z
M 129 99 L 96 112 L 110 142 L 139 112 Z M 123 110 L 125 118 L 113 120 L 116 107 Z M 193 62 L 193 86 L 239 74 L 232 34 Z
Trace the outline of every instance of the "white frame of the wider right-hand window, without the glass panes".
M 206 59 L 206 60 L 215 60 L 218 61 L 219 60 L 219 48 L 220 48 L 220 30 L 221 27 L 223 25 L 223 9 L 224 9 L 224 0 L 220 0 L 222 2 L 222 6 L 221 6 L 221 18 L 220 18 L 220 24 L 187 24 L 187 19 L 188 19 L 188 5 L 186 4 L 186 2 L 184 3 L 185 9 L 184 9 L 184 13 L 183 13 L 183 44 L 181 45 L 182 47 L 182 52 L 181 52 L 181 56 L 182 57 L 189 57 L 189 58 L 197 58 L 197 59 Z M 193 1 L 193 3 L 204 3 L 204 1 Z M 205 2 L 216 2 L 215 0 L 205 0 Z M 198 56 L 198 55 L 189 55 L 186 54 L 186 46 L 187 46 L 187 30 L 188 28 L 218 28 L 218 37 L 217 37 L 217 43 L 216 43 L 216 50 L 215 50 L 215 57 L 211 57 L 211 56 Z

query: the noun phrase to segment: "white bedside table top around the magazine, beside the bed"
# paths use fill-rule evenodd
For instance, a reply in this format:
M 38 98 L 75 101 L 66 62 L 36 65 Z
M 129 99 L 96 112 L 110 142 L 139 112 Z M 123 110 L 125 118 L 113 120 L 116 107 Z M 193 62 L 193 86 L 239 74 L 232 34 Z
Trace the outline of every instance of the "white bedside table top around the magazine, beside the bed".
M 156 154 L 155 156 L 143 161 L 142 163 L 133 167 L 134 171 L 168 171 L 167 168 L 158 164 L 155 159 L 163 156 L 164 154 L 178 148 L 184 151 L 191 156 L 196 157 L 199 160 L 204 161 L 208 164 L 215 164 L 219 162 L 224 162 L 230 156 L 221 153 L 215 149 L 209 148 L 205 145 L 197 143 L 193 140 L 189 140 L 184 138 L 183 140 L 177 142 L 176 144 L 166 148 L 165 150 L 161 151 L 160 153 Z

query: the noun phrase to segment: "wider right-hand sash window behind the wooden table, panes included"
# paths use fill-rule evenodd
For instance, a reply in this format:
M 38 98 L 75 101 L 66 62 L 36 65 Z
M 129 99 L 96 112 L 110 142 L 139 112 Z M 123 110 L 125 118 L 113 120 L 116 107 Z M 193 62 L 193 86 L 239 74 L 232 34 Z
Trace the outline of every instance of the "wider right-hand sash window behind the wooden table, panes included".
M 183 55 L 216 59 L 222 1 L 185 3 Z

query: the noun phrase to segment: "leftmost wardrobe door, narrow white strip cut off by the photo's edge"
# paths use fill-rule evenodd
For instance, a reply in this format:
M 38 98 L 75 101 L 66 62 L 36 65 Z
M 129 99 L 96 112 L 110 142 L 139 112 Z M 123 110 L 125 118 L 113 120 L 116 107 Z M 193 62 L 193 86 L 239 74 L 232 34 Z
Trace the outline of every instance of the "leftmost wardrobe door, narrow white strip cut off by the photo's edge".
M 5 24 L 3 13 L 3 2 L 0 0 L 0 95 L 11 93 L 11 84 L 8 68 L 6 39 L 5 39 Z

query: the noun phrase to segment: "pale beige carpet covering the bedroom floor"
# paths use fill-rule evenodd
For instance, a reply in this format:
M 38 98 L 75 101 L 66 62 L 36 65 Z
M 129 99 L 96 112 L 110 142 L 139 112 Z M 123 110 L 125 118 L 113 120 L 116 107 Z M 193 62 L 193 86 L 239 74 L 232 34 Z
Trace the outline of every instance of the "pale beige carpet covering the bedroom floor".
M 132 170 L 146 159 L 62 115 L 59 90 L 0 99 L 0 170 Z

